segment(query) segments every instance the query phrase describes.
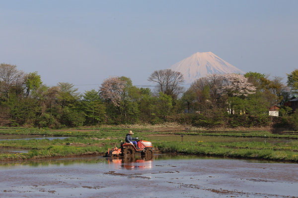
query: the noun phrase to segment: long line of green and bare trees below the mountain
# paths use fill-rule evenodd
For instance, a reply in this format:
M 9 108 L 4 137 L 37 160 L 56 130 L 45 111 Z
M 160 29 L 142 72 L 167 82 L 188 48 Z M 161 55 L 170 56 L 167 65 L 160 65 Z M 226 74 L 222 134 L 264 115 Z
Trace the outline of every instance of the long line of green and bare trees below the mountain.
M 270 78 L 257 72 L 213 74 L 183 87 L 184 77 L 170 69 L 154 71 L 154 90 L 139 88 L 125 76 L 105 79 L 98 90 L 78 93 L 74 85 L 43 84 L 37 72 L 0 64 L 0 126 L 63 128 L 100 124 L 178 122 L 203 127 L 266 126 L 268 108 L 281 107 L 278 124 L 296 126 L 284 105 L 298 93 L 298 70 Z M 267 113 L 266 113 L 267 112 Z M 289 125 L 290 123 L 290 125 Z M 298 123 L 298 121 L 297 121 Z

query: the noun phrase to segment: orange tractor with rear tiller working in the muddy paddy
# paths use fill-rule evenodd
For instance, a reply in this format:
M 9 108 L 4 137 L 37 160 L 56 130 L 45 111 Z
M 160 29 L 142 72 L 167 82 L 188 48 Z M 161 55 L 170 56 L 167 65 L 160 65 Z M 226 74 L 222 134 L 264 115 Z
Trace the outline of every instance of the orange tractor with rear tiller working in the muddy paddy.
M 116 146 L 114 148 L 109 148 L 105 154 L 105 157 L 110 156 L 126 156 L 135 155 L 136 152 L 141 152 L 141 155 L 153 155 L 153 146 L 151 142 L 145 140 L 137 140 L 137 148 L 131 143 L 121 142 L 120 148 Z

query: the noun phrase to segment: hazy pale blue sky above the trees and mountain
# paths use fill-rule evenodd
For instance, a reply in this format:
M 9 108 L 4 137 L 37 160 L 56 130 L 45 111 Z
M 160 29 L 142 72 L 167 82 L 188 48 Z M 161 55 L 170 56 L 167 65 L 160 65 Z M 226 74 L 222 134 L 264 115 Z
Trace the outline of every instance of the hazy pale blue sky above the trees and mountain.
M 146 85 L 154 70 L 211 51 L 244 72 L 298 68 L 298 0 L 0 0 L 0 62 L 44 84 Z

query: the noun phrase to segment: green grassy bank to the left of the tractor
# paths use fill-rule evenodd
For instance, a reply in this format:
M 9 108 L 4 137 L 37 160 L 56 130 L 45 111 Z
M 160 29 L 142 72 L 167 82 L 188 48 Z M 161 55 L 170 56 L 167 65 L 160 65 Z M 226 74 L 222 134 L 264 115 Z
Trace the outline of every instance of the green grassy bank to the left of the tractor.
M 72 156 L 88 153 L 104 153 L 120 140 L 94 140 L 90 138 L 69 138 L 64 140 L 13 140 L 0 141 L 1 147 L 28 149 L 28 153 L 2 153 L 0 160 L 31 159 L 57 156 Z

